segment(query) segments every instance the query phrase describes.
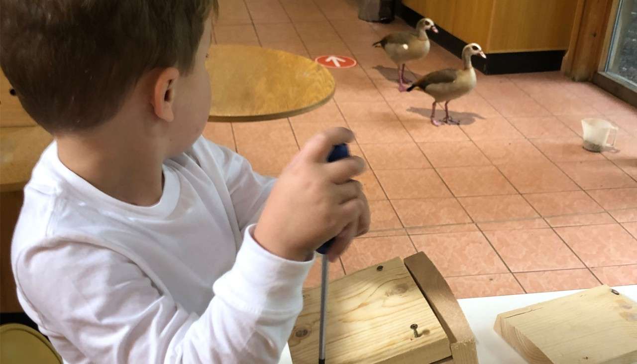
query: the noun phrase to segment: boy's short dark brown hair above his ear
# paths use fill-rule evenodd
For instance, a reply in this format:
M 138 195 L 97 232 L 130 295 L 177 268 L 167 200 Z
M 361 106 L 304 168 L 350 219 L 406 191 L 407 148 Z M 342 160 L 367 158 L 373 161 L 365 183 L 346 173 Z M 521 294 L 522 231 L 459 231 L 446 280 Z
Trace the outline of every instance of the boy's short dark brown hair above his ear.
M 117 113 L 150 69 L 192 69 L 217 0 L 0 0 L 0 64 L 51 133 Z

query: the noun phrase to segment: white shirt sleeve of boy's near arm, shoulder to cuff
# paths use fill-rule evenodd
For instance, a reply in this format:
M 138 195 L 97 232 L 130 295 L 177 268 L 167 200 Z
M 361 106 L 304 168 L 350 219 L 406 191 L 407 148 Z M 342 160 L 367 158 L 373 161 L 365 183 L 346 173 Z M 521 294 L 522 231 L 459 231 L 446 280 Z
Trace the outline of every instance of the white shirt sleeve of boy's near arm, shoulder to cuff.
M 75 348 L 92 363 L 275 364 L 303 307 L 312 262 L 270 254 L 247 230 L 201 316 L 160 292 L 124 255 L 77 242 L 22 252 L 18 296 L 54 344 L 64 339 L 56 345 L 63 358 Z

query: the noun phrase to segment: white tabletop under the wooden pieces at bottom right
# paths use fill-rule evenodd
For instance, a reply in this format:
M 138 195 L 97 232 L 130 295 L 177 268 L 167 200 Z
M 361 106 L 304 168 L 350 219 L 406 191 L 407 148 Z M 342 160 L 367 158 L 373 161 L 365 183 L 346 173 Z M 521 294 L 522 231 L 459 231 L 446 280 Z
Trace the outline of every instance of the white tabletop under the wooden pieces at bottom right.
M 614 287 L 620 294 L 626 295 L 631 300 L 637 302 L 637 284 L 632 286 Z M 464 316 L 469 321 L 469 326 L 476 337 L 476 348 L 478 349 L 478 360 L 482 364 L 526 364 L 520 354 L 516 353 L 496 331 L 493 324 L 496 316 L 502 312 L 520 309 L 534 303 L 544 302 L 568 296 L 572 293 L 583 291 L 575 289 L 573 291 L 557 291 L 544 293 L 528 293 L 526 295 L 510 295 L 495 297 L 464 298 L 458 300 Z M 318 348 L 317 348 L 318 351 Z M 292 364 L 290 350 L 285 346 L 279 364 Z

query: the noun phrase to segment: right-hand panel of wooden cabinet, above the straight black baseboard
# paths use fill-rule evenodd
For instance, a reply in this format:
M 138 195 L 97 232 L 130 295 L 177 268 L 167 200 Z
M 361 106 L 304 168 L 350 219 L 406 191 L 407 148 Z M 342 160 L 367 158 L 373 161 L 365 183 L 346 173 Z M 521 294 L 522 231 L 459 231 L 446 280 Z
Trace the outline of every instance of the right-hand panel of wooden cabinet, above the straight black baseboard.
M 568 48 L 577 0 L 496 0 L 489 52 Z

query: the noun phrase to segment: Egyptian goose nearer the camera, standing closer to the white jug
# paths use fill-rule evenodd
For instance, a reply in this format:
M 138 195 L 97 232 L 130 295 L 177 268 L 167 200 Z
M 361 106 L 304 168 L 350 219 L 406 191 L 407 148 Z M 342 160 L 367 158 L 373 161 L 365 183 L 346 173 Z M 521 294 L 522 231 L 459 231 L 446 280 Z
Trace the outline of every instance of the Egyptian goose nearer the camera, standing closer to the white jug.
M 449 116 L 449 101 L 457 99 L 462 95 L 468 94 L 476 86 L 476 72 L 471 65 L 471 56 L 479 54 L 482 58 L 487 56 L 482 52 L 482 48 L 478 43 L 469 43 L 462 49 L 462 61 L 464 69 L 447 68 L 440 71 L 434 71 L 422 76 L 420 80 L 414 82 L 407 91 L 412 91 L 416 87 L 424 91 L 426 94 L 433 96 L 434 102 L 431 105 L 431 123 L 440 126 L 442 123 L 434 119 L 436 113 L 436 103 L 445 101 L 445 119 L 444 122 L 454 122 L 460 124 L 459 121 Z

